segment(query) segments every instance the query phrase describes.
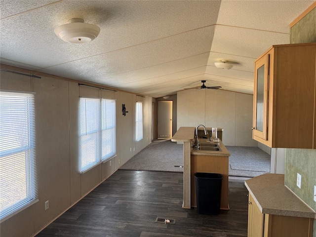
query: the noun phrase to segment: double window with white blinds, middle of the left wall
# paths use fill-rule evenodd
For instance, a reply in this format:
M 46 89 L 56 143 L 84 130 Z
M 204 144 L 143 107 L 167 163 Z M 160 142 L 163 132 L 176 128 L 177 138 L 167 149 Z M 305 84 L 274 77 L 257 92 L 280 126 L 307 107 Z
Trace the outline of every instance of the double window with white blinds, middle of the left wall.
M 116 155 L 116 102 L 80 98 L 80 171 Z

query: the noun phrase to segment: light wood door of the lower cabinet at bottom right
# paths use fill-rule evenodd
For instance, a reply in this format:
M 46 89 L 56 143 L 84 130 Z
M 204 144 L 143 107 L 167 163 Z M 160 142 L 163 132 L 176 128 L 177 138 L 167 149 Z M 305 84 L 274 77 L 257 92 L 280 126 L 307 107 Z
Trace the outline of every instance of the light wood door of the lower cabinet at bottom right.
M 263 237 L 264 214 L 249 194 L 248 202 L 248 237 Z

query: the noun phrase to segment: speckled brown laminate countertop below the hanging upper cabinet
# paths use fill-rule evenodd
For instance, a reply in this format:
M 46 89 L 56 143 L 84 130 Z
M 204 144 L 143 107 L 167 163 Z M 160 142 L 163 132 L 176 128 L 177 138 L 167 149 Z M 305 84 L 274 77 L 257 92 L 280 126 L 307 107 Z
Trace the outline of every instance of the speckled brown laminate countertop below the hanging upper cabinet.
M 263 174 L 245 181 L 263 214 L 316 218 L 316 212 L 285 185 L 283 174 Z

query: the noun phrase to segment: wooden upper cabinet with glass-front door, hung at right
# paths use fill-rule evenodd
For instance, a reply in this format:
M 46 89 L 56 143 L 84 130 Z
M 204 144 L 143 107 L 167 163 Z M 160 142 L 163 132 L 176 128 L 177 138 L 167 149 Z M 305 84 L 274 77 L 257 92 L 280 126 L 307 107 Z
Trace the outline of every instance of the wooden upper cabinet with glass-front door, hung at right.
M 316 149 L 316 43 L 274 45 L 255 61 L 252 138 Z

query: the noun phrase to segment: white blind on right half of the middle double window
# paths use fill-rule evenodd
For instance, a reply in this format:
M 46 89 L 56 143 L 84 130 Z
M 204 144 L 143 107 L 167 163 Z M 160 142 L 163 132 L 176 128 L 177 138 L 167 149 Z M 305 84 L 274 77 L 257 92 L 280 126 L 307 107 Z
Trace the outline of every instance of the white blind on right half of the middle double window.
M 102 99 L 102 161 L 116 155 L 116 101 Z

